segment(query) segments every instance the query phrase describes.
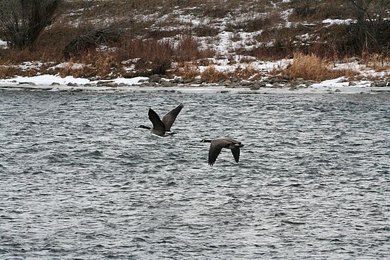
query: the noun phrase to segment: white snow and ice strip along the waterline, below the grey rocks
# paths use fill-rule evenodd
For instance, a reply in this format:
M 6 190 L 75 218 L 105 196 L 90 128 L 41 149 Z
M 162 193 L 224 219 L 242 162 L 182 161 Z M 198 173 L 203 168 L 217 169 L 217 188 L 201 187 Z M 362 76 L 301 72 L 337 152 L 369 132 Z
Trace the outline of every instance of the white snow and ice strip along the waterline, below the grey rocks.
M 74 77 L 61 78 L 54 75 L 40 75 L 35 77 L 15 77 L 0 79 L 1 89 L 27 89 L 46 91 L 167 91 L 179 93 L 250 93 L 250 94 L 374 94 L 390 93 L 390 84 L 387 86 L 372 86 L 372 81 L 357 81 L 353 86 L 343 79 L 332 79 L 320 83 L 294 88 L 264 84 L 260 88 L 251 90 L 247 86 L 221 86 L 218 84 L 179 84 L 176 86 L 145 86 L 147 77 L 132 79 L 117 78 L 112 80 L 90 81 Z

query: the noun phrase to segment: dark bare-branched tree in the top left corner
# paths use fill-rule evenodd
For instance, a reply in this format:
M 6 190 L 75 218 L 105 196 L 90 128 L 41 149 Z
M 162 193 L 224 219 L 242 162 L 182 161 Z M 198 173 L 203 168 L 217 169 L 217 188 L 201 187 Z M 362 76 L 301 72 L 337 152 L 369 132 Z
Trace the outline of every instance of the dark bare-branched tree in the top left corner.
M 0 0 L 0 36 L 11 47 L 33 47 L 62 0 Z

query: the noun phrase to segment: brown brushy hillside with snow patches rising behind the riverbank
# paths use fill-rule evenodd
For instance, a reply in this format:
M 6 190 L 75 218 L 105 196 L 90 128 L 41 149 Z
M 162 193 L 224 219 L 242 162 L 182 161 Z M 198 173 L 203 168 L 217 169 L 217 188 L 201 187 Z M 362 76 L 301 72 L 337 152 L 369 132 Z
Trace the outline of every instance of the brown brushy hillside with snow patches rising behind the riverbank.
M 65 1 L 33 48 L 1 42 L 0 78 L 158 74 L 172 84 L 291 87 L 345 77 L 390 86 L 390 4 L 367 6 L 362 26 L 352 2 Z M 377 36 L 361 43 L 362 28 Z

